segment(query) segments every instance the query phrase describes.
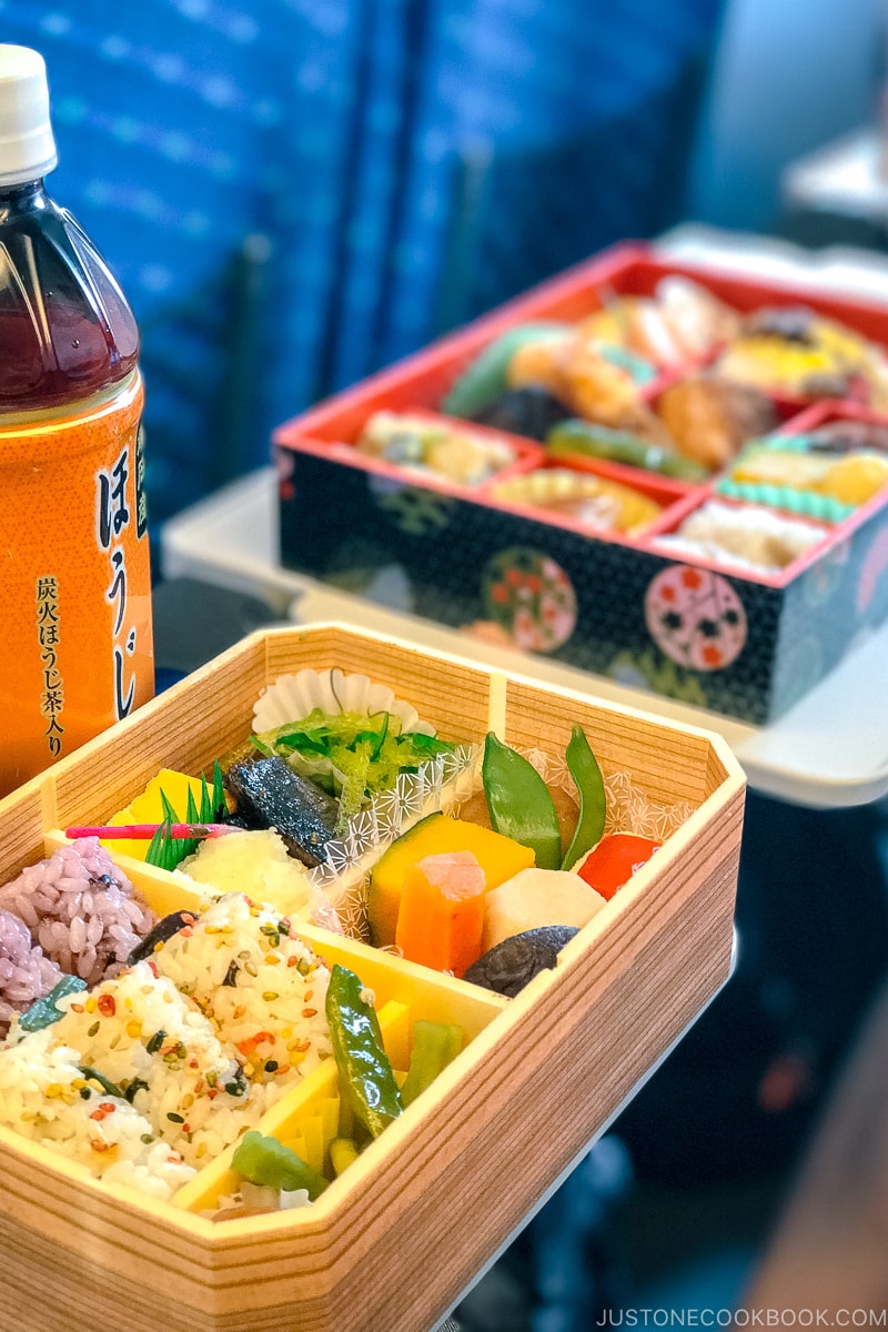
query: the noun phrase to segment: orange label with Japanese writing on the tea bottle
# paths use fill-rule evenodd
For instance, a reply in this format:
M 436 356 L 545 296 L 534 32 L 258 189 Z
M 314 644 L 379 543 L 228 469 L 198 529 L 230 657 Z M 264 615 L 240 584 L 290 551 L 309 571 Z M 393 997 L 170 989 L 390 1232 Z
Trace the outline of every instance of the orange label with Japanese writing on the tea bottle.
M 0 795 L 153 694 L 141 409 L 0 426 Z

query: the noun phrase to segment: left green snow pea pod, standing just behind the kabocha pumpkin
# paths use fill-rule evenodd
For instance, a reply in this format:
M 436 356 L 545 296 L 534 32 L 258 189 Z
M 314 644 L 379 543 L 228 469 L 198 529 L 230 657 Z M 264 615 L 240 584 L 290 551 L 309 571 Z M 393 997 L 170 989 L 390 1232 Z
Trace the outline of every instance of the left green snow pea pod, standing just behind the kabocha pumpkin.
M 530 847 L 541 870 L 556 870 L 562 859 L 558 814 L 534 765 L 489 731 L 481 775 L 494 831 Z

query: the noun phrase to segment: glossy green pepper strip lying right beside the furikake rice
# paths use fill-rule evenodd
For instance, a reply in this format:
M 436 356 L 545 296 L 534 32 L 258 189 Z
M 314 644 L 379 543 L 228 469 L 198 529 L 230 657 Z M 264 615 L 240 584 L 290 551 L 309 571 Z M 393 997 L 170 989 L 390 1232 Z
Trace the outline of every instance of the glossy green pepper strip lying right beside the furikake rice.
M 334 963 L 326 994 L 326 1016 L 339 1083 L 354 1112 L 378 1138 L 403 1110 L 401 1092 L 382 1048 L 379 1019 L 361 998 L 363 984 L 353 971 Z

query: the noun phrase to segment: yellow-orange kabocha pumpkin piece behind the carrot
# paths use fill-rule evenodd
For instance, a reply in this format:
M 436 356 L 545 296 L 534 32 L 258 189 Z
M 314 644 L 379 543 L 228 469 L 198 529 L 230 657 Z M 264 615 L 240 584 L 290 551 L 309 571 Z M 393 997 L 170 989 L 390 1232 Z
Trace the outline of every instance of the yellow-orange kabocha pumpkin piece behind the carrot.
M 491 829 L 435 811 L 402 832 L 379 856 L 367 886 L 367 924 L 378 947 L 395 942 L 405 876 L 411 864 L 443 851 L 471 851 L 485 871 L 487 888 L 534 863 L 534 852 Z

